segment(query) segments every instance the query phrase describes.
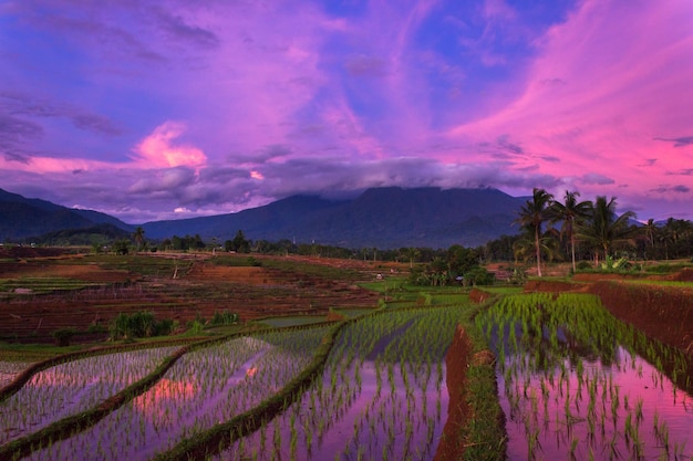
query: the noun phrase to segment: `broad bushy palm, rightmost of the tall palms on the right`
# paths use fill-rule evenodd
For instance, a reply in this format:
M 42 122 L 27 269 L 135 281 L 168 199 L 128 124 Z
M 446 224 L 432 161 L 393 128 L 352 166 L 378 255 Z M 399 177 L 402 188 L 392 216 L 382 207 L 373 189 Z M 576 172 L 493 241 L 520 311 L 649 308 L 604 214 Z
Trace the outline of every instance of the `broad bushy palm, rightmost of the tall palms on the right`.
M 621 216 L 616 213 L 616 197 L 607 201 L 607 197 L 599 196 L 591 206 L 589 218 L 578 224 L 578 238 L 588 241 L 594 248 L 594 263 L 599 262 L 599 252 L 604 260 L 614 243 L 631 240 L 632 230 L 628 221 L 635 218 L 632 211 L 625 211 Z

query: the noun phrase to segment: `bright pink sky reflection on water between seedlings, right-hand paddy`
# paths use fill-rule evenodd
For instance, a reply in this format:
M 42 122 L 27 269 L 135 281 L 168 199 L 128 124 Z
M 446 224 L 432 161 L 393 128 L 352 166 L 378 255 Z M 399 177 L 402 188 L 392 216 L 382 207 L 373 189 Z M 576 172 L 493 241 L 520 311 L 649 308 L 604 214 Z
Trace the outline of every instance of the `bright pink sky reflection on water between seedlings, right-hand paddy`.
M 511 364 L 513 357 L 506 359 L 506 367 Z M 642 401 L 642 420 L 638 433 L 642 441 L 642 459 L 674 460 L 691 459 L 693 455 L 693 398 L 678 389 L 671 380 L 656 371 L 640 356 L 631 356 L 621 347 L 617 350 L 616 363 L 604 366 L 600 362 L 583 362 L 585 379 L 598 379 L 597 386 L 597 427 L 593 442 L 589 442 L 589 425 L 587 411 L 590 394 L 587 385 L 581 387 L 581 399 L 578 396 L 578 376 L 573 368 L 568 378 L 560 383 L 561 371 L 554 370 L 552 385 L 542 375 L 527 377 L 523 373 L 514 379 L 509 388 L 503 373 L 498 373 L 498 389 L 500 404 L 506 413 L 506 429 L 508 431 L 508 459 L 527 460 L 529 457 L 532 431 L 538 431 L 538 443 L 535 451 L 536 459 L 570 460 L 571 443 L 576 442 L 573 451 L 576 460 L 589 459 L 590 448 L 594 460 L 633 459 L 635 455 L 632 437 L 630 442 L 624 437 L 628 415 L 631 415 L 631 425 L 635 425 L 637 406 Z M 569 363 L 565 362 L 566 367 Z M 525 383 L 527 381 L 527 386 Z M 548 389 L 548 399 L 541 390 L 541 381 Z M 603 398 L 603 386 L 607 384 L 607 395 Z M 527 387 L 527 390 L 525 388 Z M 619 407 L 616 421 L 612 413 L 613 392 L 618 389 Z M 567 397 L 568 396 L 568 397 Z M 532 398 L 537 402 L 532 406 Z M 570 415 L 573 423 L 567 425 L 566 398 L 569 401 Z M 624 408 L 624 398 L 628 399 L 628 409 Z M 521 411 L 511 411 L 511 401 L 517 399 Z M 548 409 L 548 413 L 546 413 Z M 606 425 L 602 432 L 601 415 L 604 415 Z M 669 431 L 669 453 L 663 448 L 663 440 L 655 437 L 655 415 L 660 428 L 665 423 Z M 614 429 L 616 427 L 616 429 Z M 620 458 L 614 455 L 612 444 Z

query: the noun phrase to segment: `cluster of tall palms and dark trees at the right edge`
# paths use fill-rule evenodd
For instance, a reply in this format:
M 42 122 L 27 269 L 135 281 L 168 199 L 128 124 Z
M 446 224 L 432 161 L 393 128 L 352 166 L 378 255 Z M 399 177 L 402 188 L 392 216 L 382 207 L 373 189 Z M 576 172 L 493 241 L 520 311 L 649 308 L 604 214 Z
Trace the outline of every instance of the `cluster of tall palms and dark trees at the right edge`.
M 488 253 L 507 260 L 510 250 L 515 261 L 534 261 L 538 275 L 544 260 L 570 261 L 575 272 L 578 261 L 600 266 L 616 259 L 691 258 L 691 221 L 669 218 L 656 223 L 649 219 L 642 224 L 635 221 L 633 211 L 617 212 L 616 197 L 598 196 L 594 201 L 581 201 L 579 197 L 579 192 L 567 190 L 561 200 L 556 200 L 545 189 L 535 188 L 515 221 L 524 233 L 489 242 Z M 501 255 L 494 254 L 498 251 Z

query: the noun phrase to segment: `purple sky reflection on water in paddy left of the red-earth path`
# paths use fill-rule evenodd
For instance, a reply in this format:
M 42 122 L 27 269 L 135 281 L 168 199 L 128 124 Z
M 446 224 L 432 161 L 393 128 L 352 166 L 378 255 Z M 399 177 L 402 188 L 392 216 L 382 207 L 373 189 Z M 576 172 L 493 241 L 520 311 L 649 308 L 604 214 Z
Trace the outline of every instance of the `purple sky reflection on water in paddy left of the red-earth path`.
M 410 386 L 414 388 L 410 397 L 411 412 L 407 413 L 407 396 L 405 384 L 402 379 L 400 364 L 393 367 L 394 396 L 392 386 L 387 377 L 387 366 L 376 365 L 373 360 L 364 360 L 360 366 L 361 387 L 354 391 L 356 379 L 354 375 L 355 360 L 351 367 L 345 369 L 343 380 L 349 381 L 350 392 L 344 386 L 337 387 L 334 394 L 330 392 L 331 373 L 325 369 L 323 373 L 323 390 L 328 406 L 322 406 L 321 399 L 313 397 L 311 401 L 310 391 L 306 392 L 302 400 L 279 416 L 276 422 L 270 423 L 265 429 L 265 434 L 258 431 L 249 436 L 241 447 L 236 443 L 231 449 L 215 457 L 215 460 L 245 459 L 245 455 L 259 461 L 273 459 L 288 460 L 291 458 L 291 419 L 296 419 L 297 448 L 296 453 L 300 460 L 310 461 L 333 461 L 333 460 L 356 460 L 356 459 L 387 459 L 401 460 L 432 460 L 438 441 L 443 434 L 443 427 L 447 420 L 448 394 L 445 384 L 445 366 L 443 365 L 443 380 L 438 387 L 437 369 L 433 364 L 431 376 L 426 380 L 426 390 L 423 391 L 421 381 L 414 380 L 414 374 L 406 365 L 406 373 Z M 381 369 L 382 387 L 377 395 L 376 366 Z M 338 367 L 339 368 L 339 367 Z M 420 371 L 425 365 L 420 366 Z M 417 384 L 418 383 L 418 384 Z M 317 390 L 314 391 L 317 394 Z M 343 392 L 343 404 L 335 406 L 339 394 Z M 351 396 L 351 397 L 350 397 Z M 425 400 L 425 405 L 424 405 Z M 439 400 L 439 406 L 436 404 Z M 424 413 L 425 408 L 425 413 Z M 382 409 L 382 410 L 381 410 Z M 318 421 L 324 421 L 327 428 L 322 437 L 318 437 Z M 411 440 L 405 442 L 407 420 L 411 422 Z M 431 421 L 431 422 L 428 422 Z M 394 422 L 394 426 L 392 425 Z M 432 433 L 428 433 L 428 423 L 432 425 Z M 308 426 L 308 429 L 307 429 Z M 389 428 L 393 426 L 394 439 L 389 446 Z M 355 427 L 359 427 L 358 438 Z M 275 451 L 275 430 L 279 430 L 281 436 L 281 448 Z M 310 431 L 312 440 L 309 442 L 306 432 Z M 261 446 L 261 438 L 266 438 L 265 450 L 258 450 Z M 359 454 L 361 450 L 361 454 Z M 386 453 L 384 454 L 384 451 Z M 254 458 L 257 457 L 257 458 Z

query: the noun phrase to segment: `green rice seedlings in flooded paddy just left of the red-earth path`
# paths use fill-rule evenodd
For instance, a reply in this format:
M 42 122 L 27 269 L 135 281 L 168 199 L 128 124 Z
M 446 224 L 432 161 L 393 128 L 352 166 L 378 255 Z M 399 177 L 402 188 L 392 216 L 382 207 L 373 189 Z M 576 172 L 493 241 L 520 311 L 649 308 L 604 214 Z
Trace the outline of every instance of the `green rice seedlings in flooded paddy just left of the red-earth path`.
M 447 398 L 443 358 L 458 318 L 451 307 L 397 310 L 344 327 L 321 384 L 277 419 L 290 433 L 288 415 L 296 415 L 296 427 L 320 437 L 299 437 L 297 447 L 285 438 L 281 447 L 259 450 L 258 459 L 290 458 L 292 450 L 304 460 L 431 459 Z M 258 437 L 250 436 L 247 446 L 258 444 Z M 235 455 L 247 451 L 235 443 L 215 459 Z

